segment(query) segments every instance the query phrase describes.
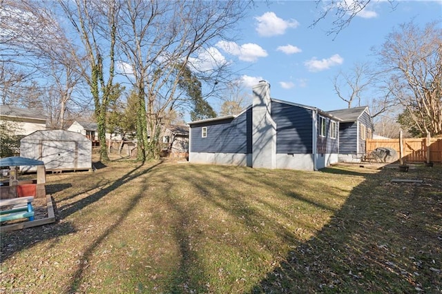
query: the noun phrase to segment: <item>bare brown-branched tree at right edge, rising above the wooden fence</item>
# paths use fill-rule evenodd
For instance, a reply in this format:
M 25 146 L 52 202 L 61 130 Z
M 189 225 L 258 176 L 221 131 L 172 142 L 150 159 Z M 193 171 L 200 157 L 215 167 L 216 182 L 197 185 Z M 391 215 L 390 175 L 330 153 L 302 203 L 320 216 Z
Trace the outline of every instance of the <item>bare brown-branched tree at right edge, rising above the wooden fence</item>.
M 390 78 L 391 95 L 407 110 L 423 134 L 442 133 L 442 29 L 403 23 L 387 36 L 380 66 Z

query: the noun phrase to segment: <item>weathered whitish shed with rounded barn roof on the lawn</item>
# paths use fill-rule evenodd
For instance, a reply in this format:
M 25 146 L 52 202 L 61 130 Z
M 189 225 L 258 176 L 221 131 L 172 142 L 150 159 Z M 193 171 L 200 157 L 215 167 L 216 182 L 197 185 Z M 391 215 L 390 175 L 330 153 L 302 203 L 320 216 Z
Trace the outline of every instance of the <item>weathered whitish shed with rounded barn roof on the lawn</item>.
M 20 156 L 44 161 L 46 170 L 92 170 L 92 142 L 68 130 L 37 130 L 23 137 Z

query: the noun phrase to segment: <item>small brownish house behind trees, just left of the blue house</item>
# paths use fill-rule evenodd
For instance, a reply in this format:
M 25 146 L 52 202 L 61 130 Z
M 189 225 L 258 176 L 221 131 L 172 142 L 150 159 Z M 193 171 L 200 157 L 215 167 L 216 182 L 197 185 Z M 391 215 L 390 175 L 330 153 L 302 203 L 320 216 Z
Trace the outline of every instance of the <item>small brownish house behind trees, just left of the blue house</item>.
M 189 126 L 162 126 L 163 150 L 169 157 L 189 156 Z

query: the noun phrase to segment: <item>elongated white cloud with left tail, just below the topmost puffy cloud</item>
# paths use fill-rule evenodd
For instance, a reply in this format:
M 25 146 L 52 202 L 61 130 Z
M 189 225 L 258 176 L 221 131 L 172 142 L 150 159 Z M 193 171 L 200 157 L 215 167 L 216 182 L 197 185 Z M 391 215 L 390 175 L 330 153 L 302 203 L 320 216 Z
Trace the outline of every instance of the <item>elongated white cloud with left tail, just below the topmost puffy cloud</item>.
M 245 43 L 239 46 L 231 41 L 219 41 L 216 46 L 230 55 L 238 56 L 242 61 L 254 62 L 260 57 L 267 57 L 267 51 L 255 43 Z

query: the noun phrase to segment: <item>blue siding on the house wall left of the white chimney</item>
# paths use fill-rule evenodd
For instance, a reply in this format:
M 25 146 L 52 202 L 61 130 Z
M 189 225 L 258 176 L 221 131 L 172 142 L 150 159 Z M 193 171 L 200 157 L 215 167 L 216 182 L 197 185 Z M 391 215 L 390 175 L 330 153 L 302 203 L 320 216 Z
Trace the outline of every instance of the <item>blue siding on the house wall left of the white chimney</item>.
M 251 149 L 251 138 L 247 133 L 249 122 L 247 112 L 234 119 L 202 122 L 191 126 L 192 153 L 243 153 Z M 251 119 L 249 119 L 251 121 Z M 202 137 L 202 128 L 207 128 L 206 137 Z M 250 140 L 250 146 L 247 144 Z

